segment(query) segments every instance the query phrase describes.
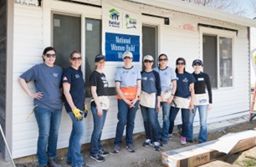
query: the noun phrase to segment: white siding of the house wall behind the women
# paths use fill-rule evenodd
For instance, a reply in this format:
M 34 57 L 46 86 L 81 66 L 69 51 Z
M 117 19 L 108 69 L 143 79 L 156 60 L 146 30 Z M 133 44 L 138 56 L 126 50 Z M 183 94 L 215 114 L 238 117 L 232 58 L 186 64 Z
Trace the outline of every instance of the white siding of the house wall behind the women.
M 56 7 L 56 4 L 59 2 L 53 2 L 55 4 L 53 8 L 57 8 L 56 11 L 64 11 L 58 10 L 58 7 Z M 64 4 L 64 2 L 61 2 L 61 4 Z M 192 60 L 200 58 L 201 55 L 200 33 L 197 30 L 197 23 L 207 23 L 238 29 L 238 37 L 234 40 L 233 88 L 213 90 L 213 109 L 208 113 L 208 123 L 223 119 L 232 119 L 248 114 L 249 60 L 248 39 L 244 35 L 247 29 L 246 27 L 238 26 L 233 23 L 223 23 L 208 18 L 197 17 L 186 13 L 159 10 L 159 8 L 143 6 L 137 3 L 135 5 L 141 7 L 141 13 L 151 13 L 171 18 L 170 25 L 163 25 L 163 20 L 161 20 L 161 23 L 154 23 L 156 18 L 144 19 L 143 23 L 156 25 L 159 28 L 159 53 L 166 53 L 169 56 L 169 66 L 175 68 L 176 59 L 182 57 L 187 60 L 186 69 L 189 72 L 192 72 Z M 77 11 L 76 7 L 78 5 L 72 4 L 68 6 L 70 6 L 68 12 Z M 81 6 L 79 7 L 79 10 L 83 10 L 83 8 L 84 6 Z M 36 154 L 38 137 L 38 127 L 34 115 L 32 114 L 27 121 L 27 116 L 33 109 L 33 100 L 28 98 L 27 94 L 25 94 L 20 88 L 18 84 L 18 76 L 34 64 L 42 62 L 41 54 L 43 52 L 44 45 L 45 43 L 49 43 L 49 38 L 45 37 L 45 34 L 50 33 L 50 28 L 48 26 L 50 26 L 51 20 L 47 20 L 48 23 L 44 23 L 44 19 L 46 18 L 43 16 L 49 17 L 50 10 L 44 10 L 45 13 L 43 13 L 42 8 L 15 5 L 14 12 L 13 158 L 18 158 L 30 154 Z M 101 17 L 100 15 L 95 15 L 93 16 L 98 18 Z M 157 19 L 160 20 L 160 18 Z M 194 29 L 183 29 L 182 25 L 187 23 L 191 24 Z M 46 28 L 46 30 L 44 28 Z M 240 31 L 242 33 L 240 33 Z M 110 80 L 111 87 L 114 86 L 115 67 L 122 65 L 123 63 L 106 63 L 105 74 L 108 80 Z M 135 65 L 140 66 L 141 63 L 136 63 Z M 33 83 L 29 83 L 28 87 L 34 91 Z M 110 99 L 111 109 L 108 112 L 107 119 L 105 121 L 102 139 L 115 138 L 117 104 L 114 96 L 110 97 Z M 90 101 L 90 99 L 88 99 L 88 101 Z M 161 113 L 159 114 L 159 120 L 162 122 Z M 93 119 L 90 113 L 84 122 L 86 130 L 83 142 L 89 143 L 90 135 L 93 130 Z M 180 114 L 178 114 L 175 123 L 181 123 Z M 70 130 L 71 121 L 69 119 L 69 115 L 63 111 L 59 129 L 58 148 L 68 147 Z M 138 110 L 134 133 L 142 131 L 144 131 L 143 121 L 141 111 Z

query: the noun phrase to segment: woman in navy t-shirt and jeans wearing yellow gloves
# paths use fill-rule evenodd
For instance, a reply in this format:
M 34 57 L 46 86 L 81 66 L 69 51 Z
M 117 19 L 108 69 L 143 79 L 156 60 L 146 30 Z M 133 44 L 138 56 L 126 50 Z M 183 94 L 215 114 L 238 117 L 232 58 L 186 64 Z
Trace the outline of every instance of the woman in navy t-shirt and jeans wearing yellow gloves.
M 71 66 L 64 71 L 62 82 L 65 95 L 65 109 L 72 120 L 72 131 L 69 136 L 69 150 L 67 164 L 73 167 L 88 166 L 84 163 L 81 152 L 82 139 L 84 136 L 84 78 L 80 70 L 82 63 L 81 53 L 74 51 L 70 54 Z

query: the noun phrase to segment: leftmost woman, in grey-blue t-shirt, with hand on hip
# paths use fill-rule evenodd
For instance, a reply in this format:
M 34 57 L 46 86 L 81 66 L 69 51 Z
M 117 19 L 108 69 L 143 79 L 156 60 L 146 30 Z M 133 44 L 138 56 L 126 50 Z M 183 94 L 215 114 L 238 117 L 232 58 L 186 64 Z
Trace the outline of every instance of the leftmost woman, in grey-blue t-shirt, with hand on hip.
M 39 63 L 21 74 L 18 82 L 33 98 L 33 111 L 38 123 L 38 166 L 61 166 L 55 161 L 58 141 L 58 131 L 61 119 L 61 74 L 62 69 L 54 65 L 56 50 L 44 48 L 44 63 Z M 28 82 L 34 81 L 35 93 L 28 89 Z M 48 152 L 48 156 L 47 153 Z

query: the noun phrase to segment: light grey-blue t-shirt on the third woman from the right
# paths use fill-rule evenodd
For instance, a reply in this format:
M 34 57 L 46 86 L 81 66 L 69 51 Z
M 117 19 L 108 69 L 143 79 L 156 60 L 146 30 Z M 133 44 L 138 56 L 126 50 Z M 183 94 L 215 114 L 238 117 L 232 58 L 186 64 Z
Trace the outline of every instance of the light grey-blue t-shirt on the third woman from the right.
M 166 90 L 172 90 L 172 81 L 177 80 L 177 75 L 173 68 L 166 67 L 165 69 L 154 68 L 156 72 L 160 75 L 161 80 L 161 92 L 165 92 Z

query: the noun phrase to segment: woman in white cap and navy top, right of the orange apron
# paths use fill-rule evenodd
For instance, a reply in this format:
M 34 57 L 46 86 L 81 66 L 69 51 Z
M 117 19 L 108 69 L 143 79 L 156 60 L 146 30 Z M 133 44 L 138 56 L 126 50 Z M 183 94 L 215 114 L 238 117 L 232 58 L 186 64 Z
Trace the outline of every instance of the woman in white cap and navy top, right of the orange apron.
M 146 141 L 143 146 L 153 144 L 155 150 L 160 150 L 158 123 L 156 112 L 160 110 L 161 85 L 159 73 L 152 69 L 154 58 L 146 55 L 143 58 L 145 70 L 141 72 L 141 114 L 146 132 Z

